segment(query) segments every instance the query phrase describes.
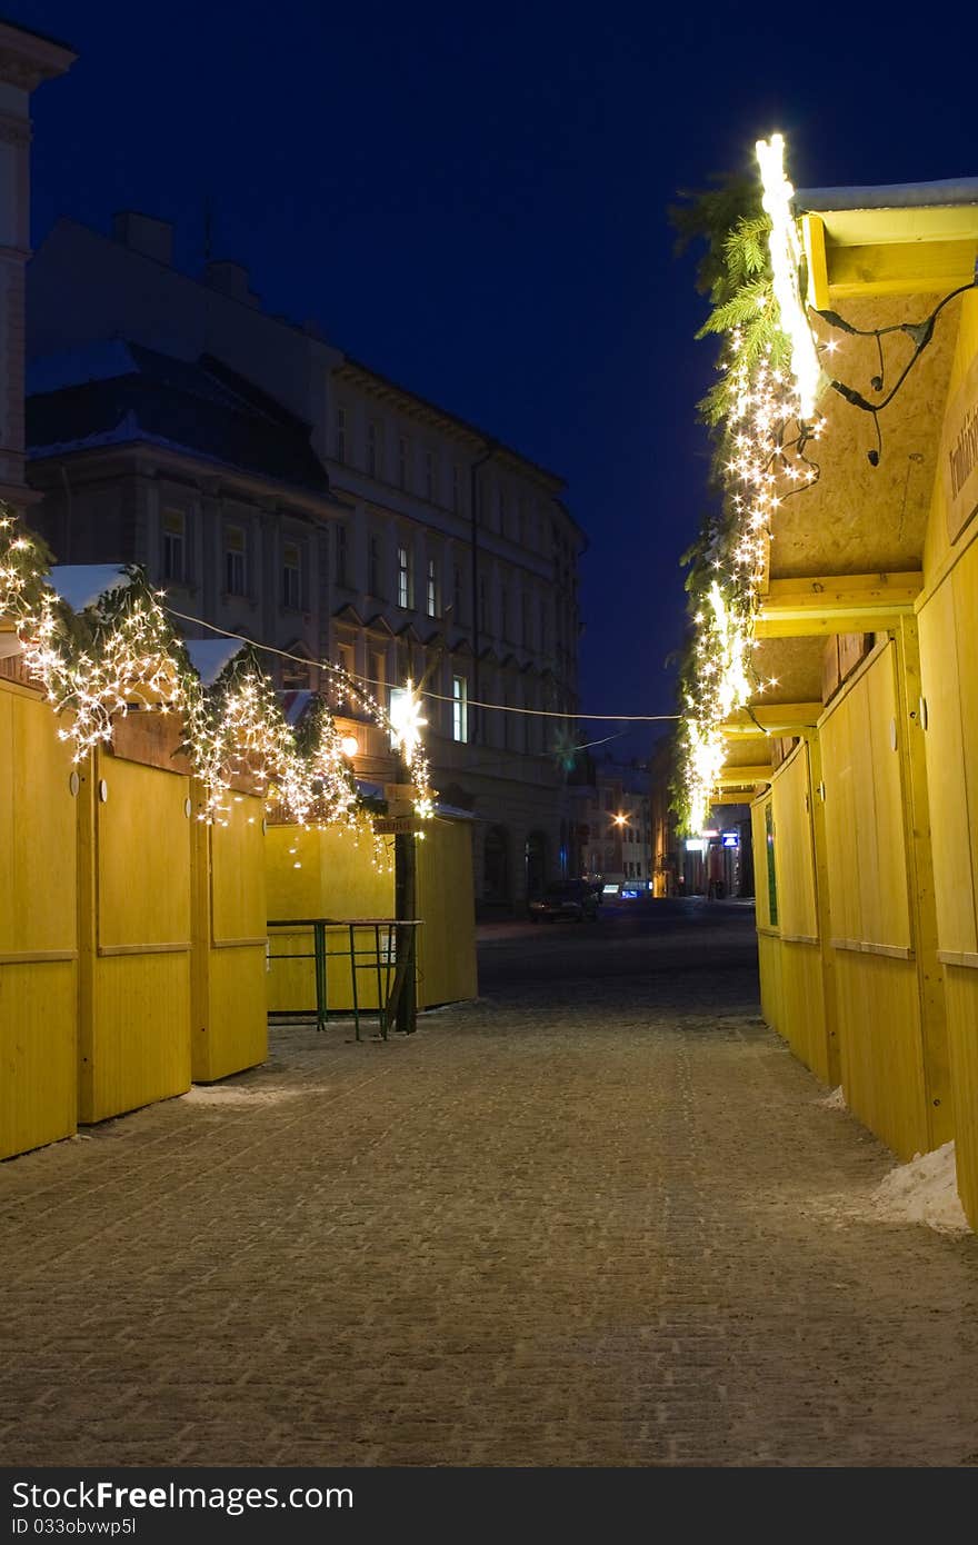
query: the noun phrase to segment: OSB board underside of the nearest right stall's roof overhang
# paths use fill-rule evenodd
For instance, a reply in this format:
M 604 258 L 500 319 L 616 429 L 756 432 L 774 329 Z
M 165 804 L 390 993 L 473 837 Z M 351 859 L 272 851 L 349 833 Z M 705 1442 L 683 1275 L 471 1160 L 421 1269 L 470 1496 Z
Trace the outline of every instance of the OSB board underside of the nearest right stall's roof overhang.
M 918 323 L 930 314 L 933 295 L 896 295 L 845 301 L 839 314 L 857 328 Z M 893 573 L 919 569 L 924 535 L 938 473 L 941 422 L 947 400 L 961 301 L 939 315 L 930 345 L 904 386 L 879 416 L 882 454 L 876 448 L 873 417 L 845 402 L 831 388 L 819 400 L 827 425 L 813 447 L 819 482 L 788 499 L 777 511 L 771 544 L 771 578 L 813 575 Z M 884 338 L 884 391 L 870 386 L 879 372 L 874 338 L 854 338 L 813 317 L 817 335 L 839 345 L 823 355 L 825 369 L 859 391 L 868 402 L 885 397 L 913 354 L 905 334 Z

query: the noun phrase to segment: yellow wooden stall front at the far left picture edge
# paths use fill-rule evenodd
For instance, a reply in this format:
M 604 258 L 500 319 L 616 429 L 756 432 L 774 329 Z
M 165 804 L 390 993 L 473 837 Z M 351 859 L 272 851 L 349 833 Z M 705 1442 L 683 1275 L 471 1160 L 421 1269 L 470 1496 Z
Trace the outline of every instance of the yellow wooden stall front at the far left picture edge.
M 73 772 L 43 694 L 0 678 L 0 1159 L 76 1129 Z

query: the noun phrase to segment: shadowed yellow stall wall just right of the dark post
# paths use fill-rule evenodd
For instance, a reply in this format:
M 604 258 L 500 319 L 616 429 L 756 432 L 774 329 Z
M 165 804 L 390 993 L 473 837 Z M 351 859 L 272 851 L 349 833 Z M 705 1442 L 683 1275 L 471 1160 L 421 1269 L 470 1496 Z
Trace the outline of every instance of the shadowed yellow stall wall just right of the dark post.
M 428 822 L 416 844 L 417 1006 L 459 1003 L 479 992 L 471 820 Z

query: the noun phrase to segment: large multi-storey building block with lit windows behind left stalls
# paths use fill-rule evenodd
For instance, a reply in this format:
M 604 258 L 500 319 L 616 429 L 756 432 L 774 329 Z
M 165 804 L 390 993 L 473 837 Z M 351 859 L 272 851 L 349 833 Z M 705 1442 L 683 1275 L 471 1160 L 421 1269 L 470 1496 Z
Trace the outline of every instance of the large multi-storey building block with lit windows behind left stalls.
M 192 278 L 171 250 L 127 212 L 113 238 L 60 221 L 31 264 L 37 524 L 60 561 L 145 562 L 187 616 L 295 657 L 286 688 L 320 686 L 323 658 L 380 700 L 422 683 L 476 896 L 522 905 L 573 868 L 584 536 L 562 479 L 269 317 L 243 266 Z M 389 776 L 360 739 L 357 771 Z

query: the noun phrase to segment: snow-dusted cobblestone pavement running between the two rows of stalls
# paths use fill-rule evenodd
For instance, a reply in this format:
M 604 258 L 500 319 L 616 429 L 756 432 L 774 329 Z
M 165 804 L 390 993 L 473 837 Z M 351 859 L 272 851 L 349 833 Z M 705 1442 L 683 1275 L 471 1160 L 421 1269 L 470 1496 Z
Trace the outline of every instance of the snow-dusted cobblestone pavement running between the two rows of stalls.
M 978 1241 L 859 1214 L 751 918 L 650 912 L 0 1166 L 0 1462 L 978 1463 Z

